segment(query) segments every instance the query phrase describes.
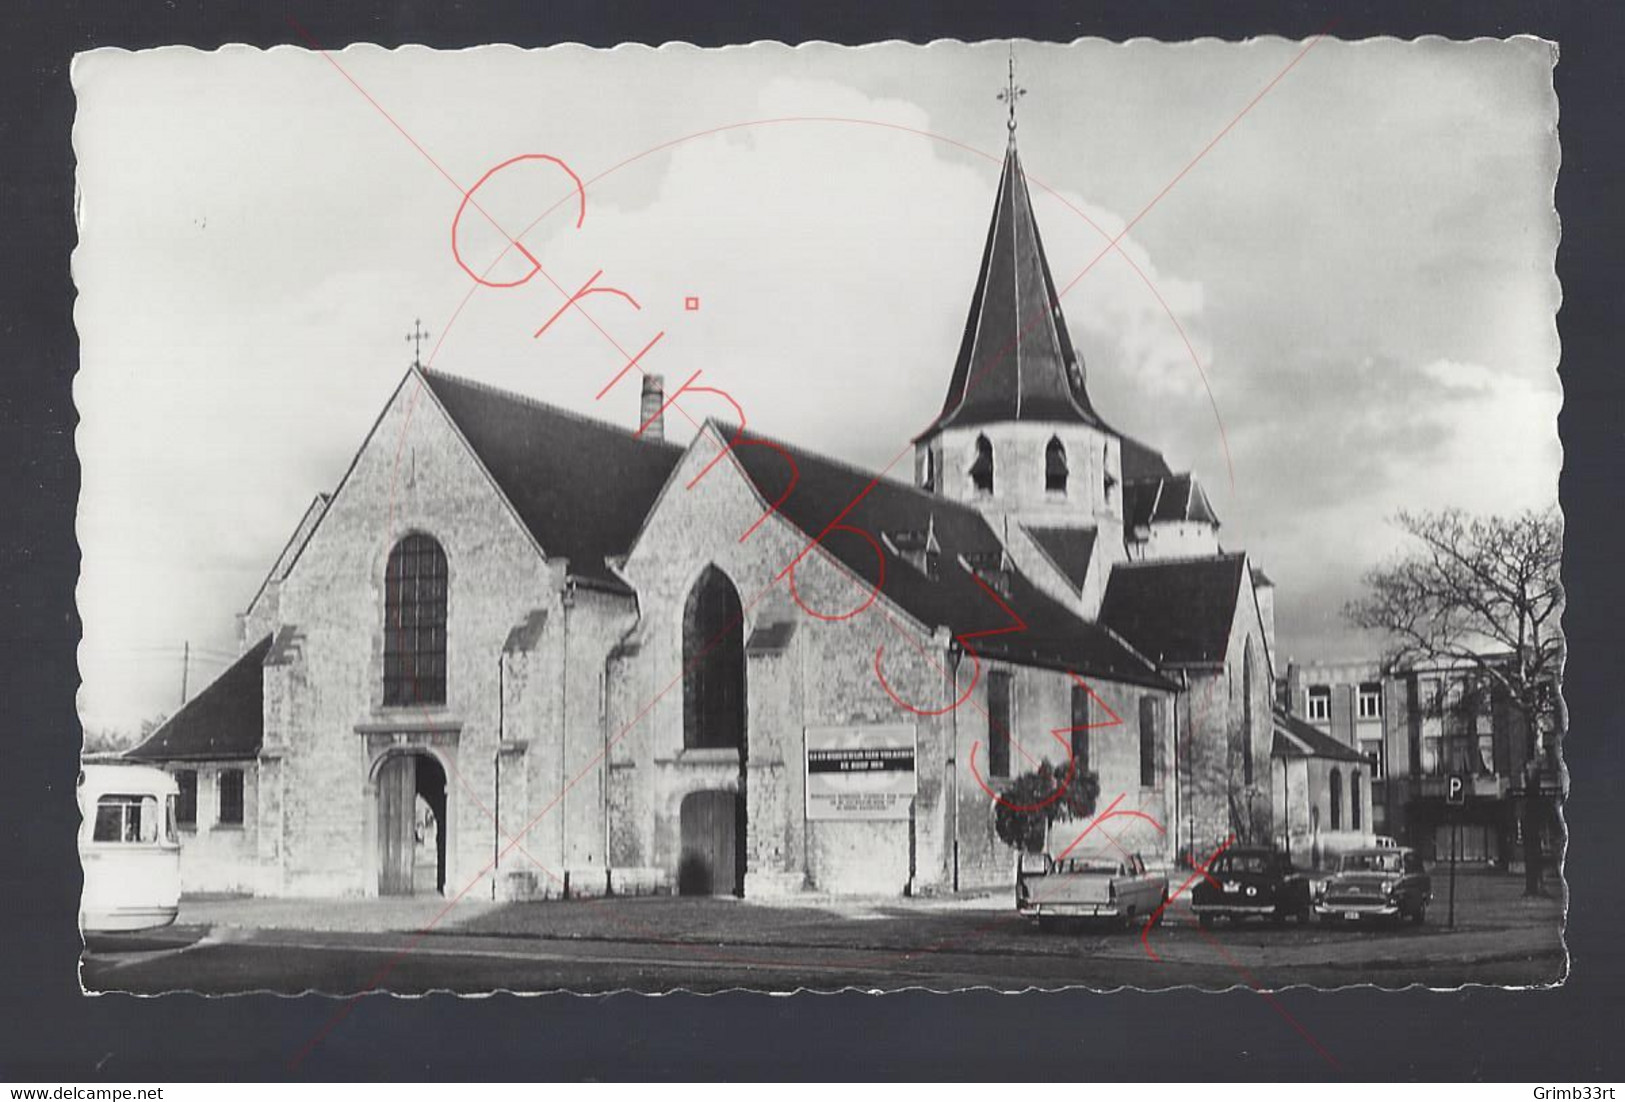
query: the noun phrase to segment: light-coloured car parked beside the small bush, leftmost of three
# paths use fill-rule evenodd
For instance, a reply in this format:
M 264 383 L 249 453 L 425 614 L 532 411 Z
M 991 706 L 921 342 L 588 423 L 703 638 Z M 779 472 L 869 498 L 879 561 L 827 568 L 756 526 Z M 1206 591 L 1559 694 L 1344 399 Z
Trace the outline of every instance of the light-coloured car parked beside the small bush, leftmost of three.
M 1168 878 L 1149 871 L 1138 853 L 1024 853 L 1016 866 L 1016 909 L 1040 926 L 1082 918 L 1128 926 L 1152 915 L 1160 923 L 1167 900 Z

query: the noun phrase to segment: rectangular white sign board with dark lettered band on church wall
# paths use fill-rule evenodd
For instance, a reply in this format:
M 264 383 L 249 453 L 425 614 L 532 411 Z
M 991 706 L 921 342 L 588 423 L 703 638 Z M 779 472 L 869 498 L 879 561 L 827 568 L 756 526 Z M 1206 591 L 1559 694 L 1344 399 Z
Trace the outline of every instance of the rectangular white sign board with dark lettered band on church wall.
M 808 819 L 907 819 L 915 751 L 912 723 L 806 728 Z

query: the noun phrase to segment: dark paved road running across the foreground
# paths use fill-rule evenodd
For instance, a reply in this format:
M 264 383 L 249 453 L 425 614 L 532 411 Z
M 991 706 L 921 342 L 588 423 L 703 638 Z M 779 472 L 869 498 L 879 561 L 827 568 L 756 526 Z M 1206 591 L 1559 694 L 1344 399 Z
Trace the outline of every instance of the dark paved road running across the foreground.
M 1332 931 L 1323 926 L 1250 925 L 1202 931 L 1173 920 L 1150 935 L 1157 959 L 1136 933 L 1038 933 L 988 915 L 925 915 L 907 943 L 887 943 L 876 923 L 826 923 L 800 944 L 733 931 L 720 941 L 692 935 L 578 936 L 535 933 L 358 933 L 310 930 L 174 928 L 98 938 L 84 957 L 84 985 L 102 991 L 323 991 L 375 988 L 452 991 L 673 990 L 956 990 L 1084 985 L 1164 988 L 1237 985 L 1456 987 L 1550 983 L 1563 970 L 1554 938 L 1519 930 Z

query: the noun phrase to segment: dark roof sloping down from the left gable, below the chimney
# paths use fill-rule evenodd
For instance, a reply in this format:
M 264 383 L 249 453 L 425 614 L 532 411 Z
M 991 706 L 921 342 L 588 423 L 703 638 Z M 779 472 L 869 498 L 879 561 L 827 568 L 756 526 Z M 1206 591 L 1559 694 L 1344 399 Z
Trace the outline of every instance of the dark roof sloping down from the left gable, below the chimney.
M 604 558 L 630 546 L 682 449 L 466 379 L 422 377 L 541 549 L 618 585 Z

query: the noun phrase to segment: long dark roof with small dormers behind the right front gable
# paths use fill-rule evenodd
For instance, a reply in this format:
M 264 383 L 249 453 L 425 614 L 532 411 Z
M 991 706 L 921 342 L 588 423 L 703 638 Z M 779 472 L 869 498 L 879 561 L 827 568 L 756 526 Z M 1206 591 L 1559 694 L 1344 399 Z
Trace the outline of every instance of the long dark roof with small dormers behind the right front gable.
M 731 429 L 723 429 L 725 437 L 731 434 Z M 822 546 L 848 571 L 869 587 L 879 582 L 886 597 L 920 623 L 930 627 L 946 626 L 954 636 L 996 631 L 1011 624 L 1011 618 L 960 564 L 962 558 L 975 562 L 999 559 L 1003 544 L 982 514 L 913 486 L 884 478 L 874 479 L 866 471 L 795 447 L 783 447 L 795 458 L 798 473 L 790 496 L 780 505 L 786 520 L 809 538 L 816 538 L 838 517 L 840 523 L 866 531 L 881 543 L 884 579 L 874 548 L 866 540 L 845 531 L 826 535 Z M 739 449 L 734 455 L 765 501 L 775 501 L 785 491 L 790 466 L 782 455 L 764 447 Z M 926 528 L 936 533 L 941 548 L 934 577 L 902 554 L 892 554 L 879 538 L 881 533 Z M 1027 624 L 1027 629 L 972 640 L 980 655 L 1138 684 L 1170 684 L 1112 632 L 1079 619 L 1017 571 L 1006 572 L 991 585 L 996 588 L 999 584 L 1006 587 L 999 600 Z M 853 585 L 852 606 L 861 598 L 863 592 Z M 845 610 L 821 611 L 837 614 Z

